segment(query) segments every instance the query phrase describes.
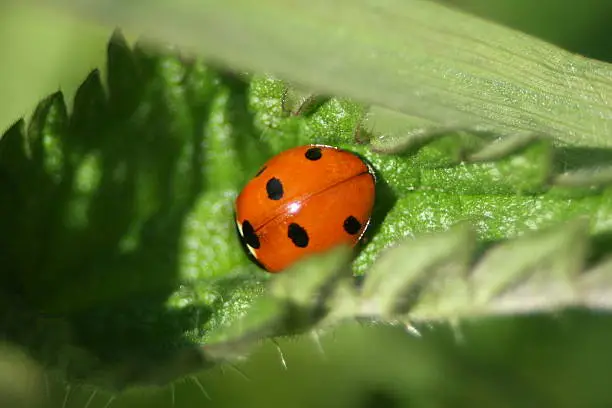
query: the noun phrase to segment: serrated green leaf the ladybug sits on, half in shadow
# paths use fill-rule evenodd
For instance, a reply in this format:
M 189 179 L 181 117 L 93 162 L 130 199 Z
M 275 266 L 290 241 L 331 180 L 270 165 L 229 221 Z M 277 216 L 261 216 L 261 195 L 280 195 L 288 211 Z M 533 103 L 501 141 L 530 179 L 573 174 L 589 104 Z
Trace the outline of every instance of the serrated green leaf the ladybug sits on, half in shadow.
M 106 89 L 94 71 L 71 115 L 52 95 L 0 139 L 1 329 L 54 378 L 165 384 L 354 318 L 607 307 L 607 149 L 458 129 L 387 140 L 363 103 L 118 34 L 108 54 Z M 371 226 L 354 252 L 266 274 L 242 252 L 233 202 L 266 159 L 305 143 L 373 166 Z

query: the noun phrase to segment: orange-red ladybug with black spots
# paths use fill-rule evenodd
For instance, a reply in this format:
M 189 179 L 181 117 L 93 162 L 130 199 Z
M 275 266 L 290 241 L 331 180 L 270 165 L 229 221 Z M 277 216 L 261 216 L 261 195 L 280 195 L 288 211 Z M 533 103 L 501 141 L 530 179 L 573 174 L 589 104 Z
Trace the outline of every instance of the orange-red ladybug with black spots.
M 346 150 L 306 145 L 266 162 L 236 198 L 252 260 L 271 273 L 339 244 L 354 246 L 374 206 L 372 168 Z

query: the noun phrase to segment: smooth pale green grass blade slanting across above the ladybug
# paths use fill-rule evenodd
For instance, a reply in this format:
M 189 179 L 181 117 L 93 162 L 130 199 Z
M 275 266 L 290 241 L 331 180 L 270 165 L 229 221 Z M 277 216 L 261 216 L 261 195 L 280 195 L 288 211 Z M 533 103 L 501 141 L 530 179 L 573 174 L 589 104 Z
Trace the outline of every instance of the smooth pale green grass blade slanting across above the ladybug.
M 440 2 L 158 0 L 125 8 L 63 0 L 54 7 L 150 33 L 234 69 L 402 112 L 406 131 L 526 132 L 611 145 L 609 64 Z

